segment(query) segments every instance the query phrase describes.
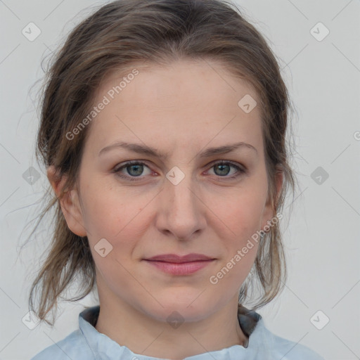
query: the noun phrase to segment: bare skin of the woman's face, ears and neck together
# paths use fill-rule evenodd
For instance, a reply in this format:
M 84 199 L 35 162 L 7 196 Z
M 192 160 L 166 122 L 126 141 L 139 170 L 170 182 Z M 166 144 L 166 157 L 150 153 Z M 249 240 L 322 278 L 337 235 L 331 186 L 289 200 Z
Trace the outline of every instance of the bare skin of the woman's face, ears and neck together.
M 139 75 L 89 125 L 79 188 L 60 201 L 70 230 L 87 236 L 91 245 L 101 304 L 96 329 L 136 354 L 166 359 L 246 347 L 236 316 L 238 293 L 255 261 L 257 243 L 217 284 L 209 279 L 275 215 L 267 196 L 259 106 L 248 114 L 238 106 L 245 94 L 259 104 L 257 94 L 250 83 L 210 60 L 136 68 Z M 105 78 L 94 104 L 121 79 L 116 73 Z M 98 156 L 120 140 L 146 144 L 169 157 L 122 148 Z M 238 141 L 257 152 L 244 147 L 210 158 L 198 155 Z M 113 171 L 129 160 L 146 163 L 142 173 L 134 167 L 120 172 L 138 181 Z M 245 174 L 233 167 L 221 172 L 213 164 L 219 160 L 245 167 Z M 166 178 L 174 166 L 185 176 L 177 185 Z M 48 177 L 58 194 L 65 178 L 56 181 L 52 167 Z M 279 173 L 278 193 L 282 181 Z M 113 246 L 105 257 L 94 250 L 101 238 Z M 143 261 L 191 252 L 215 260 L 187 276 L 165 274 Z M 178 328 L 167 322 L 173 311 L 184 319 Z

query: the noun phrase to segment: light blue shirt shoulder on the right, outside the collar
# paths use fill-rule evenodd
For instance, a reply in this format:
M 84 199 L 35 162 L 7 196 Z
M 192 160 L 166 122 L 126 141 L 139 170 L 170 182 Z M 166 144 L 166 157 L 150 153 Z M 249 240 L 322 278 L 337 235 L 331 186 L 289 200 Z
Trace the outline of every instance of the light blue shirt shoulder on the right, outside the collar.
M 266 347 L 271 349 L 271 355 L 274 359 L 282 360 L 324 360 L 322 356 L 311 350 L 305 345 L 298 342 L 281 338 L 264 326 L 263 319 L 259 321 L 259 330 L 262 341 L 266 343 Z

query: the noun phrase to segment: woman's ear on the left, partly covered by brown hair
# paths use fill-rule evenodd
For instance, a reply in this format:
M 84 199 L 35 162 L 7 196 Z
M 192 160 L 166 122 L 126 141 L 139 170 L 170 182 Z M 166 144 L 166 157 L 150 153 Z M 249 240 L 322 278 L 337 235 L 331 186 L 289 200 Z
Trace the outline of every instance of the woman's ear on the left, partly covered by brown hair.
M 48 167 L 46 174 L 53 191 L 56 193 L 56 197 L 59 198 L 68 176 L 59 176 L 53 165 Z M 77 189 L 65 191 L 63 197 L 59 199 L 59 201 L 69 229 L 77 236 L 86 236 L 86 229 L 84 227 L 84 219 L 79 203 L 79 194 Z

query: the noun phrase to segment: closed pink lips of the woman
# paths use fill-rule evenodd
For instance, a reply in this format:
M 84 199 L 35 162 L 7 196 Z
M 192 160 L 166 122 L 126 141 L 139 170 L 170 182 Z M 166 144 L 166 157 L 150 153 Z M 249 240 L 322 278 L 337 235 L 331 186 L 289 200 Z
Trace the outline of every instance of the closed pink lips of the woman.
M 145 260 L 167 274 L 189 275 L 203 269 L 213 262 L 214 258 L 202 254 L 188 254 L 185 256 L 164 254 Z

